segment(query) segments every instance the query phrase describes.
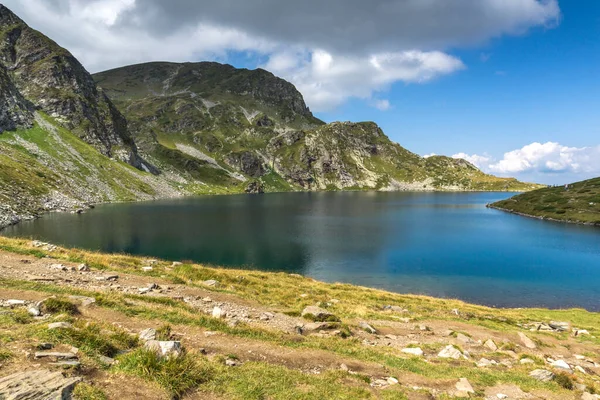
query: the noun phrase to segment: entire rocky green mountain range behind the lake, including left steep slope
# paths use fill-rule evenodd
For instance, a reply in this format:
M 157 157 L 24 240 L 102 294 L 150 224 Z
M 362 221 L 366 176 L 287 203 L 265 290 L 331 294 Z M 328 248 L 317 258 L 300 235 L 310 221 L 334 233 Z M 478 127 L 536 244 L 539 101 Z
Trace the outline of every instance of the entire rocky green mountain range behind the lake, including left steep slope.
M 148 63 L 92 76 L 0 5 L 0 229 L 45 211 L 203 193 L 533 187 L 424 159 L 372 122 L 325 124 L 262 69 Z

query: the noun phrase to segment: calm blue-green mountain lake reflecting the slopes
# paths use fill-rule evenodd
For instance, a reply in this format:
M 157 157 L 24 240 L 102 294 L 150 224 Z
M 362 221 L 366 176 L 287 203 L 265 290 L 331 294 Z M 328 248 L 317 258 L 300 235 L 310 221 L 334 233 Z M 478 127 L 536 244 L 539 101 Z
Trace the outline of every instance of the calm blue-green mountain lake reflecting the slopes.
M 109 204 L 2 232 L 500 307 L 600 311 L 600 229 L 487 209 L 507 193 L 282 193 Z

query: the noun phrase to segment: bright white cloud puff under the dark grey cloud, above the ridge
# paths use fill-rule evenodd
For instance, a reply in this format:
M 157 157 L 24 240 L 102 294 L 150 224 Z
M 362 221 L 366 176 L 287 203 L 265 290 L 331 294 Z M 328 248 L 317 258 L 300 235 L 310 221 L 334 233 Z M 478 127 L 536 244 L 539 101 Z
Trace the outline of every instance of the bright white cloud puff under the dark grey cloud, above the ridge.
M 350 97 L 371 100 L 375 107 L 386 110 L 389 101 L 372 100 L 375 92 L 398 81 L 428 82 L 465 66 L 458 58 L 439 51 L 351 57 L 299 50 L 275 53 L 264 68 L 293 82 L 313 110 L 326 111 Z

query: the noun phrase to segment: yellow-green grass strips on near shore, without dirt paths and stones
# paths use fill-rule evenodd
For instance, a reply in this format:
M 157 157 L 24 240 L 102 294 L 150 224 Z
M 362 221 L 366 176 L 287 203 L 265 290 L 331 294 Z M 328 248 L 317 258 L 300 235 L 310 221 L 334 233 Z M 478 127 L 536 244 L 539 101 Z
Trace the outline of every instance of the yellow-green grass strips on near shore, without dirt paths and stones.
M 22 255 L 35 255 L 37 257 L 49 256 L 54 260 L 63 262 L 86 262 L 94 269 L 117 271 L 120 273 L 141 274 L 140 266 L 146 260 L 126 255 L 106 255 L 90 253 L 80 250 L 58 249 L 52 252 L 33 248 L 28 241 L 0 238 L 0 250 L 8 253 Z M 539 345 L 551 338 L 561 341 L 573 340 L 585 343 L 588 346 L 600 346 L 598 327 L 600 327 L 600 314 L 589 313 L 584 310 L 549 311 L 543 309 L 492 309 L 481 306 L 465 304 L 454 300 L 438 300 L 423 296 L 398 295 L 373 289 L 361 288 L 346 284 L 325 284 L 312 279 L 283 273 L 264 273 L 245 270 L 223 270 L 206 268 L 200 265 L 185 264 L 171 268 L 171 263 L 160 261 L 153 276 L 161 276 L 174 283 L 183 283 L 189 287 L 203 287 L 202 281 L 217 279 L 224 289 L 211 289 L 221 293 L 234 294 L 241 299 L 255 301 L 268 305 L 272 309 L 297 315 L 303 307 L 313 305 L 315 301 L 326 303 L 330 299 L 338 299 L 339 303 L 330 306 L 330 310 L 342 319 L 344 324 L 354 327 L 355 321 L 360 319 L 376 319 L 379 321 L 393 321 L 397 317 L 389 311 L 382 310 L 384 304 L 398 305 L 409 310 L 412 321 L 445 321 L 465 323 L 473 327 L 485 327 L 498 332 L 512 333 L 523 331 L 521 324 L 531 321 L 570 321 L 578 328 L 585 328 L 594 336 L 581 338 L 568 338 L 568 334 L 534 334 L 528 333 Z M 523 390 L 544 389 L 548 393 L 555 392 L 555 398 L 574 398 L 572 392 L 561 388 L 556 382 L 540 383 L 530 377 L 528 372 L 535 368 L 544 368 L 543 362 L 536 358 L 537 366 L 515 365 L 512 368 L 475 368 L 472 361 L 446 361 L 436 359 L 425 361 L 418 358 L 399 356 L 392 348 L 364 346 L 360 340 L 352 337 L 343 339 L 339 337 L 319 338 L 306 336 L 302 340 L 272 331 L 252 328 L 244 324 L 229 326 L 222 320 L 204 315 L 198 315 L 193 309 L 183 302 L 168 298 L 156 298 L 137 295 L 123 295 L 117 292 L 110 294 L 70 289 L 68 286 L 47 285 L 25 281 L 2 279 L 1 286 L 5 290 L 22 293 L 40 293 L 43 296 L 50 294 L 63 296 L 70 294 L 92 296 L 96 298 L 97 307 L 110 310 L 116 315 L 127 316 L 139 320 L 162 321 L 165 324 L 177 325 L 178 329 L 185 327 L 201 328 L 221 332 L 225 337 L 234 337 L 275 345 L 285 350 L 325 351 L 328 354 L 342 356 L 356 363 L 375 362 L 382 364 L 389 376 L 420 376 L 423 379 L 437 380 L 438 384 L 461 377 L 468 377 L 477 388 L 484 388 L 498 383 L 516 384 Z M 300 296 L 309 293 L 309 296 Z M 60 306 L 69 310 L 70 307 Z M 459 309 L 460 315 L 452 310 Z M 16 311 L 15 311 L 16 313 Z M 112 315 L 112 314 L 111 314 Z M 0 315 L 0 342 L 5 345 L 16 346 L 21 341 L 52 341 L 63 345 L 79 347 L 83 353 L 86 370 L 92 376 L 94 368 L 105 370 L 111 381 L 119 376 L 133 375 L 143 380 L 158 384 L 165 393 L 177 397 L 187 389 L 199 388 L 204 395 L 190 398 L 223 398 L 223 399 L 405 399 L 429 398 L 408 397 L 401 388 L 391 388 L 374 393 L 369 387 L 369 379 L 364 376 L 350 375 L 343 371 L 327 371 L 321 375 L 301 373 L 281 365 L 269 362 L 246 362 L 243 367 L 230 369 L 223 366 L 224 358 L 207 359 L 191 351 L 183 358 L 171 362 L 161 362 L 139 348 L 139 343 L 128 333 L 113 325 L 110 321 L 87 321 L 77 315 L 58 315 L 53 320 L 67 320 L 75 323 L 78 328 L 76 334 L 68 331 L 47 331 L 46 322 L 35 322 L 26 314 L 4 313 Z M 446 326 L 448 326 L 446 325 Z M 353 328 L 354 329 L 354 328 Z M 224 337 L 224 338 L 225 338 Z M 193 338 L 186 336 L 186 341 Z M 553 347 L 544 346 L 547 354 L 552 354 Z M 511 345 L 508 348 L 519 352 L 520 357 L 525 357 L 527 350 L 519 350 L 519 346 Z M 9 346 L 5 347 L 6 349 Z M 107 369 L 99 360 L 100 355 L 115 356 L 122 350 L 134 350 L 125 356 L 119 357 L 120 364 Z M 434 349 L 429 349 L 433 351 Z M 231 350 L 235 354 L 235 349 Z M 439 351 L 439 349 L 435 349 Z M 493 353 L 488 357 L 497 357 L 500 353 Z M 597 355 L 597 354 L 596 354 Z M 591 355 L 592 356 L 592 355 Z M 17 358 L 9 350 L 0 354 L 5 360 Z M 535 357 L 534 357 L 535 358 Z M 15 361 L 16 362 L 16 361 Z M 6 363 L 4 364 L 6 365 Z M 2 365 L 0 365 L 0 371 Z M 595 385 L 589 375 L 578 375 L 588 387 Z M 84 387 L 82 392 L 92 389 Z M 160 389 L 159 389 L 160 390 Z M 481 389 L 477 389 L 476 398 L 483 398 Z M 156 392 L 155 392 L 155 395 Z M 157 395 L 158 396 L 158 395 Z M 444 396 L 440 398 L 446 398 Z M 546 398 L 546 397 L 544 397 Z

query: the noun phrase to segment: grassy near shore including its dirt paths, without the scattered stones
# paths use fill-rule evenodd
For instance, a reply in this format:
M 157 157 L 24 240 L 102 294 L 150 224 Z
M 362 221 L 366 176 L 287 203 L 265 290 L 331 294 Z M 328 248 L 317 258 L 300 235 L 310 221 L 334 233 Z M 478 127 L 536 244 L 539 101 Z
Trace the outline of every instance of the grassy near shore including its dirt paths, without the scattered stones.
M 600 370 L 593 363 L 583 368 L 585 373 L 564 373 L 546 361 L 552 357 L 571 363 L 576 354 L 599 361 L 600 314 L 585 310 L 493 309 L 325 284 L 298 275 L 151 262 L 127 255 L 35 247 L 28 240 L 2 237 L 0 257 L 0 300 L 44 300 L 45 315 L 33 318 L 18 307 L 0 312 L 0 377 L 39 366 L 39 360 L 31 359 L 39 343 L 64 349 L 74 346 L 82 365 L 65 373 L 83 377 L 75 391 L 77 399 L 445 399 L 460 395 L 455 390 L 460 378 L 473 385 L 473 393 L 466 394 L 471 398 L 490 398 L 510 388 L 533 398 L 579 399 L 581 386 L 575 384 L 592 393 L 600 389 L 596 375 Z M 22 265 L 27 273 L 12 273 L 13 262 L 21 263 L 17 267 Z M 85 275 L 86 280 L 78 284 L 78 278 L 60 278 L 63 272 L 49 273 L 48 265 L 56 263 L 85 263 L 92 270 L 89 274 L 117 273 L 119 283 L 102 286 L 96 282 L 99 275 Z M 149 264 L 152 270 L 143 271 Z M 32 278 L 35 268 L 37 277 Z M 74 274 L 69 276 L 78 276 Z M 207 286 L 207 280 L 220 285 Z M 161 290 L 141 295 L 123 290 L 128 282 L 134 286 L 157 282 L 179 292 L 177 296 L 168 295 L 171 289 L 167 294 Z M 84 307 L 69 297 L 73 295 L 93 298 L 95 304 Z M 277 315 L 275 320 L 281 316 L 302 322 L 304 307 L 318 305 L 341 321 L 335 324 L 339 333 L 300 335 L 276 324 L 260 325 L 258 318 L 257 323 L 233 323 L 182 301 L 183 296 L 207 295 L 218 304 L 270 310 Z M 73 327 L 48 330 L 48 324 L 57 321 Z M 528 329 L 533 322 L 550 321 L 567 321 L 588 334 L 573 337 L 570 330 Z M 365 332 L 362 322 L 377 329 L 377 334 Z M 156 328 L 161 340 L 181 340 L 184 353 L 160 358 L 146 350 L 137 332 L 147 327 Z M 523 345 L 519 332 L 526 332 L 535 348 Z M 478 343 L 487 339 L 495 341 L 498 349 Z M 437 357 L 448 344 L 471 353 L 470 357 Z M 417 346 L 424 357 L 401 351 Z M 107 364 L 105 357 L 116 362 Z M 480 358 L 498 364 L 477 367 Z M 531 364 L 520 362 L 525 358 Z M 540 368 L 553 370 L 555 379 L 540 382 L 529 376 Z M 399 383 L 378 385 L 388 378 Z

